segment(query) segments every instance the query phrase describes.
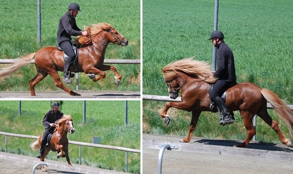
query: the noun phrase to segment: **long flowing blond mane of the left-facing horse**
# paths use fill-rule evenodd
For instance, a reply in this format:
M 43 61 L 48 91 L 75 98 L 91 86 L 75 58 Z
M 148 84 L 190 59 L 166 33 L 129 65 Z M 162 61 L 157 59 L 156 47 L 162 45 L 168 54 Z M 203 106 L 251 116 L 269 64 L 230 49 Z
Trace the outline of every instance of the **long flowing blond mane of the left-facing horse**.
M 204 80 L 207 83 L 215 83 L 216 78 L 210 77 L 212 75 L 211 65 L 204 61 L 193 60 L 193 57 L 182 59 L 171 64 L 166 65 L 162 71 L 165 80 L 172 81 L 177 77 L 177 72 L 190 74 Z

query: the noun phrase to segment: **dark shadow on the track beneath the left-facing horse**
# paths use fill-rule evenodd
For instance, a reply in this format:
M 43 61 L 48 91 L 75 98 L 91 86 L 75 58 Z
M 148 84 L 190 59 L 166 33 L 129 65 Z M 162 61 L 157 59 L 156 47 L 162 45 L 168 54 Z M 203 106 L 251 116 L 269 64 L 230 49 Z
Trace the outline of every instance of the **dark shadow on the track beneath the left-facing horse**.
M 234 145 L 241 144 L 239 141 L 232 140 L 209 140 L 209 139 L 201 139 L 194 141 L 194 143 L 201 143 L 207 145 L 215 145 L 215 146 L 227 146 L 233 147 Z M 285 145 L 281 145 L 284 147 L 280 147 L 280 145 L 274 143 L 265 143 L 265 142 L 252 142 L 246 148 L 250 149 L 260 149 L 260 150 L 271 150 L 271 151 L 283 151 L 293 153 L 293 149 L 286 147 Z

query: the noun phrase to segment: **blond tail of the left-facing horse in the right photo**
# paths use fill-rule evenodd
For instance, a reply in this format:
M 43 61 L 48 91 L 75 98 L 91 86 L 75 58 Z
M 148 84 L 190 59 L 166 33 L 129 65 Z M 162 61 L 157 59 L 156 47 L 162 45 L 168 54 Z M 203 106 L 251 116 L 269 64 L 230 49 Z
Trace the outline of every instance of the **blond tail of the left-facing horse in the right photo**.
M 268 89 L 261 90 L 262 95 L 271 103 L 279 117 L 287 124 L 290 135 L 293 136 L 293 112 L 275 93 Z

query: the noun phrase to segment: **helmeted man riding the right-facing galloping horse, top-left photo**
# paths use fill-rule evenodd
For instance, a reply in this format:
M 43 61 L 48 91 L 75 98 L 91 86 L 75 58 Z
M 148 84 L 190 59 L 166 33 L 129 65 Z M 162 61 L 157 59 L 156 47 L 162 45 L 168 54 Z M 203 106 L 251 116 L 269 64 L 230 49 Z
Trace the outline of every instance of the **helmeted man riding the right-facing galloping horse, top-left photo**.
M 59 21 L 58 31 L 57 31 L 57 42 L 58 45 L 63 49 L 63 51 L 68 55 L 68 59 L 64 66 L 64 78 L 65 83 L 72 83 L 70 77 L 71 73 L 69 71 L 70 63 L 74 60 L 75 54 L 72 48 L 71 36 L 87 35 L 87 31 L 82 31 L 79 29 L 75 22 L 75 17 L 78 12 L 81 12 L 79 5 L 76 3 L 71 3 L 68 6 L 68 11 L 62 16 Z

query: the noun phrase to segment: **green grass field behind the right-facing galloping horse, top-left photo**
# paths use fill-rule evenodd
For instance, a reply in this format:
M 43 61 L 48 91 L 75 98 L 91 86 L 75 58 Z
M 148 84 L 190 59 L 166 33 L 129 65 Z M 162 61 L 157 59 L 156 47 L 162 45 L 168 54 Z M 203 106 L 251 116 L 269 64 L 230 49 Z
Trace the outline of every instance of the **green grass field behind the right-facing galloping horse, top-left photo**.
M 15 59 L 22 55 L 37 51 L 39 48 L 57 44 L 57 28 L 59 19 L 67 11 L 71 1 L 41 2 L 41 34 L 42 41 L 37 41 L 37 1 L 20 0 L 0 2 L 0 59 Z M 140 2 L 122 0 L 117 2 L 78 1 L 82 12 L 76 17 L 79 28 L 107 22 L 126 37 L 126 47 L 110 45 L 107 47 L 105 59 L 140 59 Z M 5 67 L 8 65 L 0 65 Z M 114 65 L 122 75 L 120 86 L 114 83 L 114 73 L 106 72 L 106 78 L 95 83 L 84 73 L 80 73 L 80 89 L 84 90 L 140 90 L 140 65 Z M 63 73 L 60 73 L 62 75 Z M 28 81 L 36 75 L 35 66 L 23 68 L 13 76 L 0 82 L 0 90 L 29 90 Z M 20 78 L 21 77 L 21 78 Z M 73 84 L 68 85 L 73 89 Z M 39 90 L 61 90 L 56 87 L 51 77 L 45 78 L 36 85 Z

